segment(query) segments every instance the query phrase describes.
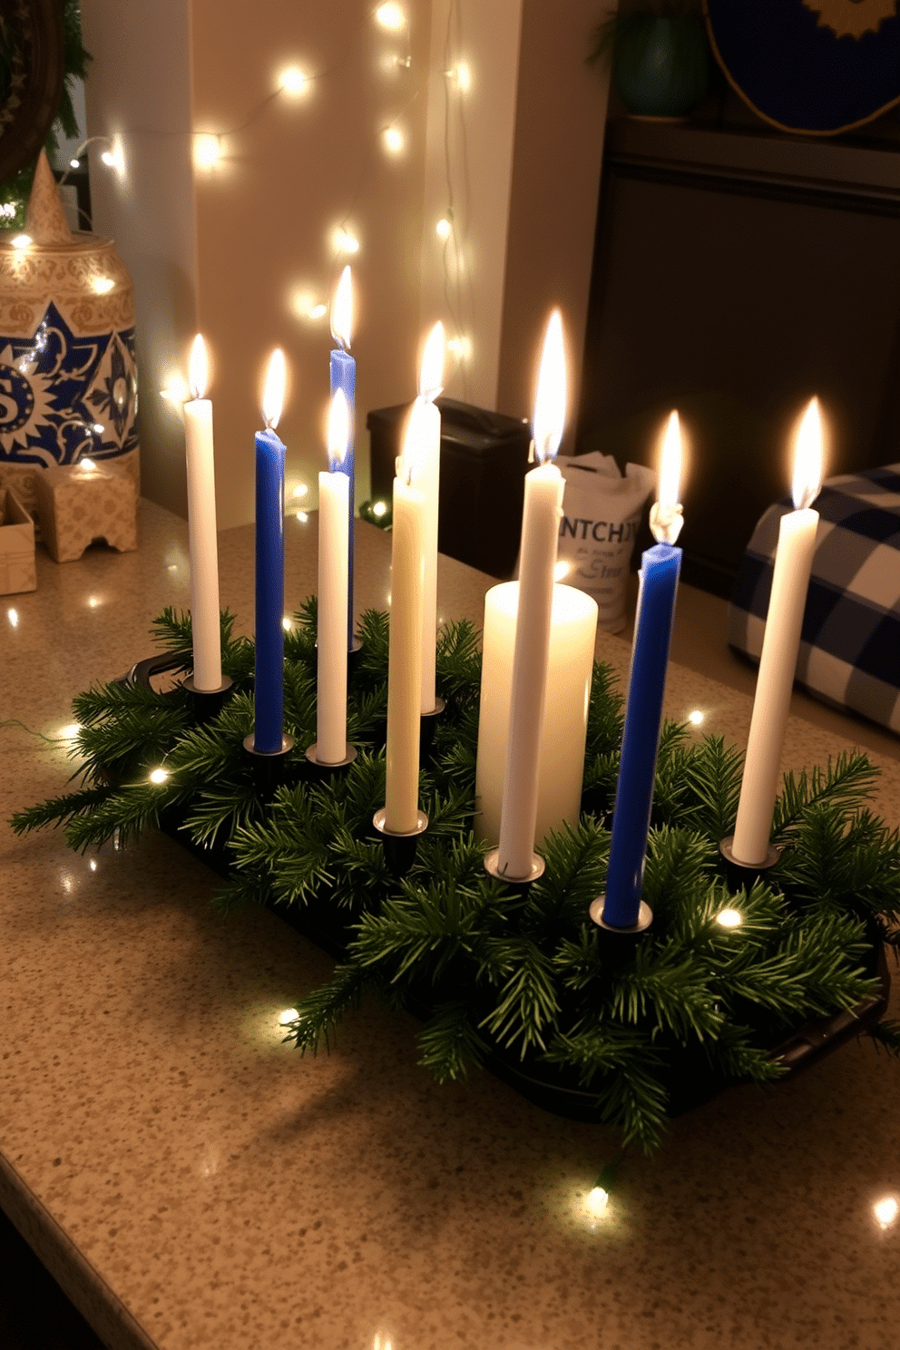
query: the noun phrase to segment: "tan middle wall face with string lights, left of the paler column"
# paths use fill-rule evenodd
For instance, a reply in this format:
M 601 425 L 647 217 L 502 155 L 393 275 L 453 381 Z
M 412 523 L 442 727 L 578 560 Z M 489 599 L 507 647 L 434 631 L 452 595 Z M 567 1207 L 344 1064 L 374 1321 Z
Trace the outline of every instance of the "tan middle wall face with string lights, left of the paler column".
M 298 317 L 294 297 L 331 297 L 347 259 L 333 227 L 349 212 L 360 240 L 349 259 L 359 301 L 356 439 L 367 493 L 364 413 L 416 393 L 418 252 L 424 190 L 425 101 L 399 117 L 406 150 L 391 158 L 379 130 L 409 104 L 428 63 L 429 9 L 412 26 L 413 65 L 386 72 L 399 50 L 370 18 L 371 0 L 297 4 L 254 0 L 254 40 L 244 22 L 223 23 L 221 0 L 193 0 L 194 127 L 229 127 L 277 86 L 279 70 L 333 68 L 309 94 L 279 96 L 244 131 L 229 135 L 221 163 L 196 176 L 198 320 L 215 340 L 220 518 L 252 518 L 252 435 L 269 352 L 282 346 L 291 390 L 279 435 L 287 478 L 314 487 L 327 468 L 328 320 Z M 247 15 L 250 11 L 242 11 Z M 416 16 L 414 16 L 416 18 Z

